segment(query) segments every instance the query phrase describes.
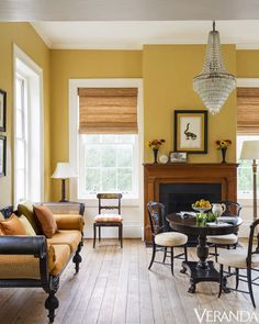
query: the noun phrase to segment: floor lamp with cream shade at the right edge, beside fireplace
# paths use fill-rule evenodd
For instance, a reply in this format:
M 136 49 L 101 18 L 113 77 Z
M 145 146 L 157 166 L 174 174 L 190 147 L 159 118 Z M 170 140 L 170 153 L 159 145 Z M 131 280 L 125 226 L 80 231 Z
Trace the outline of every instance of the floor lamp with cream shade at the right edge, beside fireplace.
M 240 159 L 252 160 L 252 211 L 255 221 L 257 219 L 257 159 L 259 159 L 259 141 L 244 141 Z

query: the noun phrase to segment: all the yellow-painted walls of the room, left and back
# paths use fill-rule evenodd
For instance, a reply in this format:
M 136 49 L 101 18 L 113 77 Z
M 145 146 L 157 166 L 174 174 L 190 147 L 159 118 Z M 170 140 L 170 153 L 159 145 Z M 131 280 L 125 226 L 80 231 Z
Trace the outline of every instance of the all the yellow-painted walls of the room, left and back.
M 204 109 L 192 89 L 193 76 L 201 71 L 204 45 L 146 45 L 143 51 L 49 51 L 27 23 L 0 23 L 0 88 L 8 91 L 8 177 L 0 178 L 0 203 L 11 203 L 12 190 L 12 44 L 15 43 L 44 70 L 45 199 L 58 200 L 60 181 L 50 175 L 57 161 L 67 161 L 68 80 L 71 78 L 143 78 L 144 137 L 164 137 L 161 152 L 173 148 L 173 110 Z M 223 46 L 226 68 L 238 77 L 259 75 L 259 51 L 235 51 Z M 235 161 L 236 98 L 228 98 L 219 114 L 209 114 L 209 154 L 190 155 L 189 161 L 221 160 L 215 141 L 234 143 L 227 160 Z M 153 156 L 145 146 L 145 161 Z

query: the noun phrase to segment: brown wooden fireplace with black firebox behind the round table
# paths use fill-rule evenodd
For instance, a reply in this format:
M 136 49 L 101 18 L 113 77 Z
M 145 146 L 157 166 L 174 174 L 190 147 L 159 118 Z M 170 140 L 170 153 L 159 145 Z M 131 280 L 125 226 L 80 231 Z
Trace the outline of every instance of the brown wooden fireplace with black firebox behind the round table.
M 237 164 L 145 164 L 144 203 L 160 201 L 166 213 L 191 210 L 204 198 L 211 202 L 236 201 Z M 144 238 L 150 242 L 150 225 L 145 208 Z

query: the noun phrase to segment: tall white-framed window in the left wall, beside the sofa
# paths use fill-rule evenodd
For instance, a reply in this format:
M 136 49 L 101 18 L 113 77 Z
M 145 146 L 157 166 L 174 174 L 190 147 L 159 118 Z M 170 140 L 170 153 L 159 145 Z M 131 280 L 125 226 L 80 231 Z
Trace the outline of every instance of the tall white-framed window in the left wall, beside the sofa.
M 14 46 L 14 204 L 43 192 L 42 70 Z

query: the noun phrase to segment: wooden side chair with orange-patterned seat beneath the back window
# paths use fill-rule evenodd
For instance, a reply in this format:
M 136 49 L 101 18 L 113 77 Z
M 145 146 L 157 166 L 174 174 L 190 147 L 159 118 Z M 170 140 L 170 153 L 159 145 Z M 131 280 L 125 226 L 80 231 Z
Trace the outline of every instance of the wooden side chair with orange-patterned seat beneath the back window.
M 123 247 L 123 217 L 121 215 L 121 200 L 122 193 L 98 193 L 99 200 L 99 214 L 94 217 L 93 223 L 93 248 L 95 247 L 97 241 L 97 227 L 99 228 L 99 242 L 101 241 L 101 227 L 117 227 L 119 228 L 119 241 L 121 247 Z M 102 202 L 106 200 L 116 200 L 116 205 L 106 205 Z M 102 214 L 102 210 L 117 210 L 116 214 Z

